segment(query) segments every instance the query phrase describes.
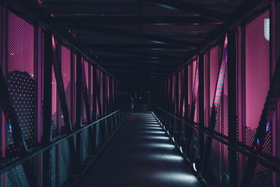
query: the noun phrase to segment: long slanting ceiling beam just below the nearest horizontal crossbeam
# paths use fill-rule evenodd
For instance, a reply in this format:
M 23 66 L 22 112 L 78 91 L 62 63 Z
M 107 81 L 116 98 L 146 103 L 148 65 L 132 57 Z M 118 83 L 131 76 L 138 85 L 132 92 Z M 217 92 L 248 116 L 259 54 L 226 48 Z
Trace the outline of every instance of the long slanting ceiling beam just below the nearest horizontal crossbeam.
M 123 36 L 132 39 L 143 39 L 147 41 L 153 41 L 154 43 L 161 43 L 161 44 L 172 44 L 174 46 L 185 46 L 185 47 L 193 47 L 197 48 L 199 43 L 190 42 L 190 41 L 182 41 L 178 39 L 170 39 L 164 36 L 158 36 L 153 34 L 146 34 L 142 32 L 132 32 L 125 29 L 116 29 L 113 27 L 104 27 L 102 25 L 80 25 L 75 26 L 71 25 L 71 27 L 76 29 L 85 29 L 91 32 L 100 32 L 103 34 L 111 34 L 115 36 Z

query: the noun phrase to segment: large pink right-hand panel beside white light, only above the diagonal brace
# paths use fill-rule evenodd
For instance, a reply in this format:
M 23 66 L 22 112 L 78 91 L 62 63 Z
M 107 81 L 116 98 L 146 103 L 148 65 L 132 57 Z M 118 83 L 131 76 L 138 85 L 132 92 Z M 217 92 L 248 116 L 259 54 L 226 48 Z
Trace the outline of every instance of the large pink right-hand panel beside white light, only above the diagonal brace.
M 246 25 L 246 144 L 251 145 L 269 90 L 269 41 L 265 36 L 262 13 Z

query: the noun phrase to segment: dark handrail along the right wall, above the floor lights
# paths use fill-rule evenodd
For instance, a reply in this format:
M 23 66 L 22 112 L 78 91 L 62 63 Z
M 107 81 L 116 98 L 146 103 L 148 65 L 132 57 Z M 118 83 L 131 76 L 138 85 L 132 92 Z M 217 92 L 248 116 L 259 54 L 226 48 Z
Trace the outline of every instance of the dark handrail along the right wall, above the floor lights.
M 157 107 L 160 111 L 163 111 L 163 112 L 169 114 L 169 116 L 176 118 L 176 120 L 179 120 L 182 123 L 194 128 L 198 132 L 201 132 L 203 134 L 206 134 L 208 137 L 216 139 L 218 142 L 228 146 L 228 148 L 232 149 L 233 151 L 239 152 L 247 157 L 251 155 L 251 152 L 255 151 L 253 148 L 251 148 L 251 146 L 247 146 L 247 145 L 243 144 L 241 141 L 235 141 L 235 143 L 237 145 L 232 145 L 228 141 L 228 137 L 225 136 L 224 134 L 221 134 L 219 132 L 214 132 L 214 134 L 211 134 L 207 127 L 203 127 L 203 130 L 201 130 L 197 123 L 190 123 L 190 121 L 186 121 L 182 118 L 179 118 L 178 116 L 175 116 L 173 113 L 169 113 L 168 111 L 165 111 L 165 109 L 162 109 L 158 106 L 155 106 L 155 107 Z M 269 169 L 272 169 L 274 172 L 280 172 L 280 159 L 279 158 L 276 158 L 275 156 L 272 156 L 272 155 L 267 155 L 266 153 L 263 153 L 260 151 L 255 151 L 255 152 L 258 153 L 257 155 L 260 155 L 258 157 L 255 157 L 255 160 L 257 162 L 259 162 L 261 165 L 264 165 L 265 167 L 267 167 Z M 262 158 L 265 158 L 265 160 Z

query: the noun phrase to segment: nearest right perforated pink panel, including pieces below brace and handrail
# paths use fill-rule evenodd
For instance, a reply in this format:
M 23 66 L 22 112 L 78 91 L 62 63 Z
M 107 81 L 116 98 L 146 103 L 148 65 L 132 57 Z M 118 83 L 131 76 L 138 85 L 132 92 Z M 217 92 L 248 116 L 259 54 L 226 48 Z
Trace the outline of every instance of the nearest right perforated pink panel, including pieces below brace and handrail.
M 245 67 L 245 102 L 246 126 L 245 143 L 252 145 L 256 128 L 269 90 L 270 59 L 269 59 L 269 11 L 260 14 L 246 25 L 246 67 Z M 272 132 L 267 132 L 262 151 L 272 154 Z M 251 186 L 272 186 L 272 173 L 257 165 Z

